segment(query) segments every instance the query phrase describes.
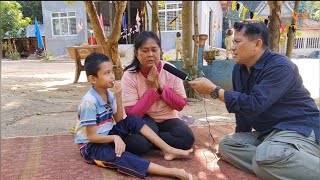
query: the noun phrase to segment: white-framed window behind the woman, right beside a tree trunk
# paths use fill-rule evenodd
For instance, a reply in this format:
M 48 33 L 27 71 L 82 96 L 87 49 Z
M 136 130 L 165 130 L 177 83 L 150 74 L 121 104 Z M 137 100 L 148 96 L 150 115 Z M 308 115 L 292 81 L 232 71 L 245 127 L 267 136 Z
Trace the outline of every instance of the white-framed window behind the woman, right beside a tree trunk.
M 161 31 L 182 30 L 181 17 L 182 2 L 167 2 L 159 8 L 159 23 Z

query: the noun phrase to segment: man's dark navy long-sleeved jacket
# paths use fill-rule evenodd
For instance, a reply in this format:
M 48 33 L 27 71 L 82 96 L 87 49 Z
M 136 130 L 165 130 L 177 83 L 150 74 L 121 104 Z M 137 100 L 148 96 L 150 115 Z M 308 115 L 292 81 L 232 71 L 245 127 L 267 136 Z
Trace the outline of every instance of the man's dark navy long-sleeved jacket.
M 254 128 L 262 136 L 277 128 L 309 137 L 314 130 L 319 143 L 319 109 L 286 56 L 266 49 L 250 73 L 236 64 L 232 83 L 234 91 L 225 91 L 224 97 L 227 110 L 236 115 L 236 132 Z

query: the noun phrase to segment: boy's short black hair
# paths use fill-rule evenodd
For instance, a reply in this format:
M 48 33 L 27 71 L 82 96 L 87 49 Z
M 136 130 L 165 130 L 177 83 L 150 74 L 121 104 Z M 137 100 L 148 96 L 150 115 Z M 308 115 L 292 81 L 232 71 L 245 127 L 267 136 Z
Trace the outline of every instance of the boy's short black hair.
M 100 64 L 103 62 L 109 62 L 108 56 L 93 52 L 89 54 L 84 60 L 84 69 L 87 76 L 93 75 L 97 77 L 97 73 L 100 70 Z

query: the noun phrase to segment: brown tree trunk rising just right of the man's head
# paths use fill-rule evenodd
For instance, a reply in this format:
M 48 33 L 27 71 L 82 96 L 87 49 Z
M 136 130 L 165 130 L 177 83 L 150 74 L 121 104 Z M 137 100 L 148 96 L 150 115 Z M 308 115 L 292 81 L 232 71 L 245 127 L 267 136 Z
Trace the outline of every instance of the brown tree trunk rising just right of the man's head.
M 282 1 L 268 1 L 270 7 L 269 16 L 269 47 L 273 51 L 279 52 L 280 27 L 281 27 L 281 5 Z

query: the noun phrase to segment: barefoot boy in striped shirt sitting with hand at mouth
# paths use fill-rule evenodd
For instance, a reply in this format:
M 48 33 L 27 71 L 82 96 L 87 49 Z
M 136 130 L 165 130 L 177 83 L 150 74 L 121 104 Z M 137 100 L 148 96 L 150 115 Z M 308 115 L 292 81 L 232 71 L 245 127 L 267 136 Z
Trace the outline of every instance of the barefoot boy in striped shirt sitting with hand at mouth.
M 113 64 L 100 53 L 85 59 L 85 70 L 92 87 L 82 98 L 78 108 L 75 143 L 86 162 L 138 178 L 147 173 L 192 179 L 183 169 L 166 168 L 144 160 L 127 151 L 122 138 L 131 132 L 140 132 L 164 152 L 164 159 L 187 156 L 193 150 L 176 149 L 166 144 L 144 121 L 136 116 L 123 118 L 121 87 L 115 82 Z M 114 94 L 109 88 L 114 87 Z M 116 124 L 114 125 L 114 121 Z

